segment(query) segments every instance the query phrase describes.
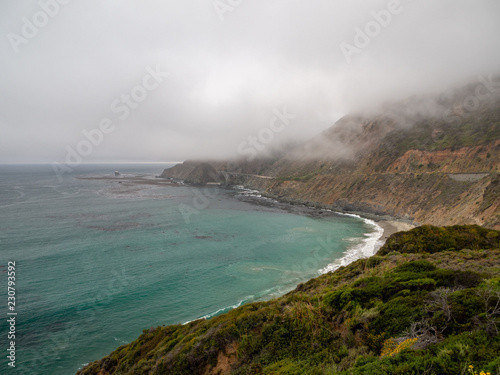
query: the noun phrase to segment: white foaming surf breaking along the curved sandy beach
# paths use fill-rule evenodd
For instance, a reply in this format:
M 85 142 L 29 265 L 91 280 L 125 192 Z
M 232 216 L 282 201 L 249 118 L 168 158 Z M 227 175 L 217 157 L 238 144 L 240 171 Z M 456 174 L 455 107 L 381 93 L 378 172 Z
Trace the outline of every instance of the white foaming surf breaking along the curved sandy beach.
M 378 248 L 382 245 L 381 238 L 384 234 L 384 229 L 376 222 L 370 219 L 362 218 L 361 216 L 355 214 L 346 214 L 346 213 L 339 213 L 339 214 L 362 219 L 365 222 L 365 224 L 373 228 L 373 231 L 370 233 L 365 233 L 364 235 L 365 238 L 363 238 L 360 243 L 357 243 L 352 247 L 350 247 L 349 249 L 347 249 L 342 258 L 339 258 L 335 262 L 330 263 L 328 266 L 320 269 L 319 270 L 320 274 L 335 271 L 336 269 L 342 266 L 347 266 L 348 264 L 358 259 L 368 258 L 374 255 L 375 252 L 378 250 Z

